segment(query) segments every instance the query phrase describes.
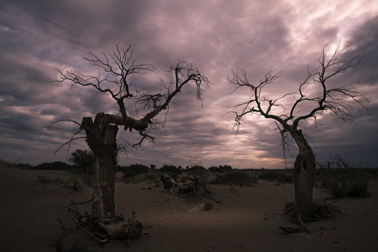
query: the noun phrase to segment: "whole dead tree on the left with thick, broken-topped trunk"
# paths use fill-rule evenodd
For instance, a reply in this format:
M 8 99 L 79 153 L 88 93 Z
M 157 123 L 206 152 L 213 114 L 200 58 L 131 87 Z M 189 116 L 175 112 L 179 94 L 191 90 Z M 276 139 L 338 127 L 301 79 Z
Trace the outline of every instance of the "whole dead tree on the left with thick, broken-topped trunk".
M 89 57 L 84 59 L 95 69 L 97 75 L 85 75 L 74 73 L 71 69 L 57 69 L 58 80 L 50 80 L 55 83 L 70 83 L 83 87 L 92 87 L 100 93 L 108 94 L 117 104 L 118 114 L 97 113 L 95 118 L 83 117 L 79 130 L 66 142 L 83 137 L 77 137 L 82 130 L 85 131 L 85 141 L 94 153 L 95 179 L 92 195 L 92 214 L 99 218 L 114 215 L 114 183 L 117 155 L 120 146 L 117 144 L 119 126 L 123 130 L 132 130 L 139 133 L 140 141 L 136 144 L 124 144 L 125 146 L 141 146 L 145 140 L 154 141 L 155 138 L 149 133 L 151 130 L 162 130 L 165 125 L 165 117 L 162 121 L 155 119 L 160 113 L 169 111 L 169 104 L 175 102 L 174 97 L 183 90 L 183 87 L 194 83 L 197 87 L 197 99 L 202 102 L 202 92 L 209 85 L 207 77 L 200 73 L 199 69 L 192 64 L 178 59 L 176 64 L 169 64 L 169 72 L 173 73 L 174 80 L 165 83 L 160 79 L 160 90 L 150 92 L 148 89 L 138 88 L 137 75 L 155 72 L 152 64 L 137 64 L 133 59 L 134 45 L 126 49 L 116 45 L 116 50 L 110 54 L 102 52 L 97 56 L 90 52 Z M 159 86 L 158 86 L 159 87 Z M 156 89 L 155 89 L 156 90 Z M 129 114 L 128 110 L 134 111 Z M 58 123 L 62 120 L 56 121 Z M 54 124 L 52 123 L 52 124 Z

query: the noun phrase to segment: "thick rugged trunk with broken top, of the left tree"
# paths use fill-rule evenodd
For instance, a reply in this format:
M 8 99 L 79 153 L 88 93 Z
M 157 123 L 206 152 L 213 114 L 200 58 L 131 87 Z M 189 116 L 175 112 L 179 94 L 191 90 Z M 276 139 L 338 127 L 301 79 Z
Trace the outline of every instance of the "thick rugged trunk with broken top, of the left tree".
M 114 215 L 118 126 L 107 124 L 106 114 L 98 113 L 93 123 L 92 118 L 83 118 L 81 127 L 85 129 L 87 144 L 96 158 L 92 214 L 97 214 L 99 218 Z

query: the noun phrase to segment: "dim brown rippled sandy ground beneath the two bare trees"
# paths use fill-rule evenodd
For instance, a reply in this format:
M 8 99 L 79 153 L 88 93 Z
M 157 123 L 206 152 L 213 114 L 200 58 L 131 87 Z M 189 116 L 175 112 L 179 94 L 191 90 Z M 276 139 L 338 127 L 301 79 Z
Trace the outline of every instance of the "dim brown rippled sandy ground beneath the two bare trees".
M 50 246 L 60 232 L 57 218 L 67 220 L 66 209 L 89 200 L 91 189 L 70 193 L 62 187 L 36 183 L 46 171 L 0 167 L 0 251 L 55 251 Z M 371 181 L 372 197 L 338 200 L 344 214 L 308 223 L 311 235 L 287 235 L 280 226 L 294 227 L 283 216 L 293 202 L 293 184 L 258 181 L 256 186 L 211 185 L 221 204 L 211 201 L 210 211 L 192 212 L 204 200 L 188 202 L 162 187 L 147 183 L 116 183 L 116 209 L 126 218 L 137 213 L 148 235 L 128 246 L 112 241 L 97 251 L 377 251 L 378 181 Z M 317 189 L 314 199 L 327 197 Z M 81 232 L 81 231 L 79 231 Z M 90 241 L 88 238 L 87 241 Z

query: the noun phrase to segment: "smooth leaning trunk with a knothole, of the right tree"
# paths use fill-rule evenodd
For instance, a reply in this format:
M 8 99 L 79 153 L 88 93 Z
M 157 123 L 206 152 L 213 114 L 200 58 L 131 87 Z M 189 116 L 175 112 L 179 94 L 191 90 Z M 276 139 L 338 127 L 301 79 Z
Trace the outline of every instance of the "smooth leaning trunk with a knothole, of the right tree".
M 295 212 L 297 217 L 313 218 L 315 155 L 301 130 L 290 130 L 290 134 L 299 148 L 294 162 Z

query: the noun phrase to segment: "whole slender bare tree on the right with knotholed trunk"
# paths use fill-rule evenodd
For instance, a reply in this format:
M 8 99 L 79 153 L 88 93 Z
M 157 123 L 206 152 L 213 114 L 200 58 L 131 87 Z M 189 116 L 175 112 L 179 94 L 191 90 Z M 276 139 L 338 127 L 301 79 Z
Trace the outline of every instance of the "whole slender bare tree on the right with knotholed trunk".
M 317 59 L 318 66 L 315 69 L 307 68 L 307 77 L 299 84 L 296 92 L 290 92 L 275 99 L 265 97 L 263 91 L 267 85 L 274 85 L 281 73 L 268 71 L 265 78 L 257 84 L 249 83 L 245 69 L 232 70 L 232 77 L 229 77 L 230 83 L 237 85 L 235 90 L 247 87 L 252 91 L 251 98 L 247 102 L 234 107 L 235 110 L 241 109 L 241 111 L 232 111 L 235 113 L 237 132 L 243 124 L 244 116 L 257 114 L 274 120 L 276 130 L 281 133 L 284 154 L 289 146 L 288 137 L 294 139 L 299 151 L 294 163 L 296 214 L 303 218 L 314 216 L 313 188 L 316 160 L 307 137 L 302 133 L 301 123 L 311 119 L 318 123 L 318 117 L 324 115 L 324 112 L 341 120 L 353 120 L 353 105 L 358 104 L 367 110 L 369 102 L 365 94 L 358 92 L 353 86 L 337 86 L 337 83 L 330 85 L 333 77 L 359 64 L 364 55 L 348 60 L 338 59 L 339 43 L 335 52 L 329 56 L 328 50 L 328 45 L 326 45 Z M 290 104 L 290 101 L 293 102 Z M 289 103 L 290 106 L 286 104 L 283 106 L 283 102 Z M 287 107 L 290 109 L 286 109 Z M 303 112 L 306 109 L 308 112 Z

